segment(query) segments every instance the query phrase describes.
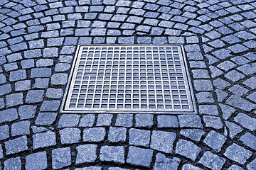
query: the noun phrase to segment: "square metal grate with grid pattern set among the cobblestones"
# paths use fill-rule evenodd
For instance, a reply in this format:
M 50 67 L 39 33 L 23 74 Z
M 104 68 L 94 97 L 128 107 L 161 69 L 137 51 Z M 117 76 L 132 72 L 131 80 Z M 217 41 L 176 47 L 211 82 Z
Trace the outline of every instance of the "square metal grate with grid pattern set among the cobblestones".
M 181 45 L 80 45 L 63 112 L 194 113 Z

